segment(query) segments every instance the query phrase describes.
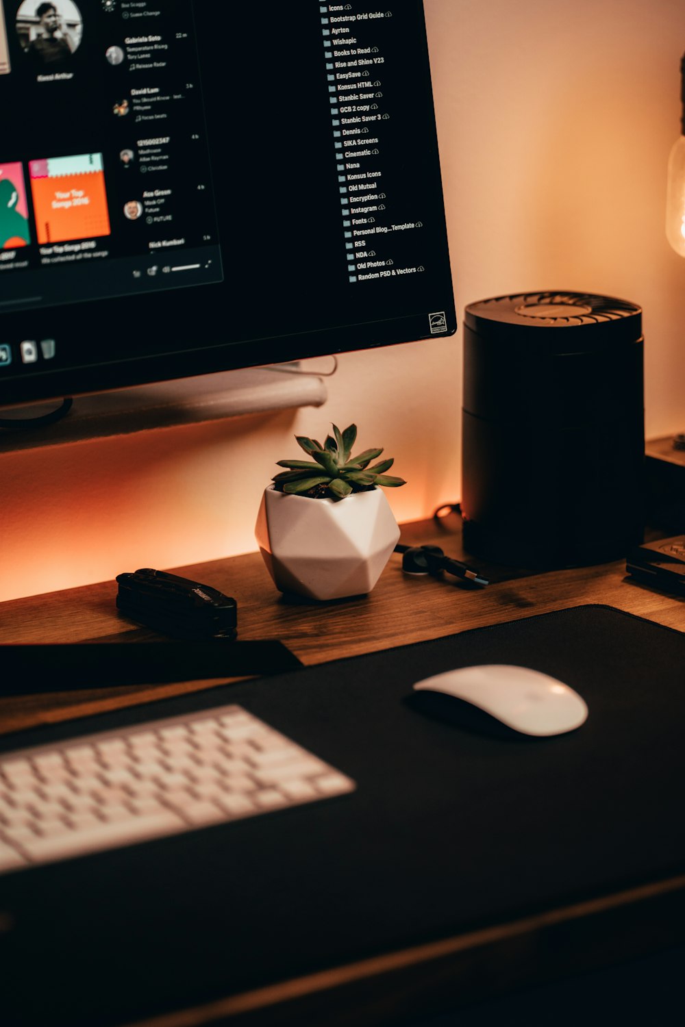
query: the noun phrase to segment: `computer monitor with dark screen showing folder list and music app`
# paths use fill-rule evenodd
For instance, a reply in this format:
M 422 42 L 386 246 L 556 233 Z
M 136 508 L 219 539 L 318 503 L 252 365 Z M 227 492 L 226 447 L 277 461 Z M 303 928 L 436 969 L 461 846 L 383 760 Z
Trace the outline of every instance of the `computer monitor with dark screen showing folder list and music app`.
M 455 331 L 420 0 L 0 14 L 0 405 Z

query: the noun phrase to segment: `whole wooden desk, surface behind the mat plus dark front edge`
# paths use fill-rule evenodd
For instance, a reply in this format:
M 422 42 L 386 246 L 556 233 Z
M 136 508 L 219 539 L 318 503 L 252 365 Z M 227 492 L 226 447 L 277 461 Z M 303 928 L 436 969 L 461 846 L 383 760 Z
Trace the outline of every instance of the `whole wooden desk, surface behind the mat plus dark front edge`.
M 450 556 L 468 560 L 455 516 L 440 523 L 405 525 L 402 540 L 439 544 Z M 284 601 L 274 589 L 258 554 L 177 571 L 237 599 L 241 639 L 280 639 L 305 664 L 585 603 L 607 604 L 685 630 L 685 602 L 633 583 L 625 576 L 623 561 L 533 575 L 470 562 L 491 576 L 488 587 L 464 587 L 452 578 L 408 577 L 402 572 L 401 557 L 393 556 L 370 596 L 329 605 Z M 0 642 L 120 640 L 135 644 L 155 638 L 119 616 L 115 594 L 114 582 L 103 582 L 1 604 Z M 214 683 L 193 681 L 0 697 L 0 730 L 10 732 L 148 702 L 212 687 Z M 398 1012 L 417 1001 L 439 1001 L 441 995 L 451 1001 L 455 981 L 459 981 L 460 995 L 472 999 L 483 994 L 485 980 L 487 989 L 496 992 L 512 983 L 520 985 L 554 976 L 560 959 L 565 968 L 582 969 L 607 958 L 627 957 L 644 948 L 674 944 L 680 940 L 684 915 L 685 878 L 674 877 L 567 909 L 426 943 L 415 950 L 391 952 L 311 978 L 274 984 L 259 992 L 160 1016 L 146 1024 L 193 1027 L 229 1018 L 242 1023 L 243 1016 L 250 1024 L 256 1017 L 260 1027 L 290 1023 L 342 1027 L 352 1018 L 359 1025 L 392 1023 Z

